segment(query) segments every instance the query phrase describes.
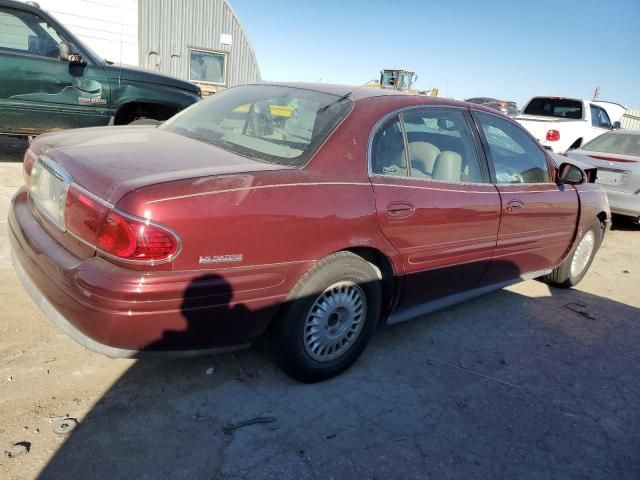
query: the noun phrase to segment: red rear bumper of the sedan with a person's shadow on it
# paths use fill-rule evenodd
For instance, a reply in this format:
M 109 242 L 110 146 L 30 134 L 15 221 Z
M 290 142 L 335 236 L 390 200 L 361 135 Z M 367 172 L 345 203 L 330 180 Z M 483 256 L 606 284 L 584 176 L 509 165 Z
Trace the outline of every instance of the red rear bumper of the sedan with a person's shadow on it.
M 273 280 L 271 288 L 234 295 L 255 273 L 147 272 L 74 257 L 36 221 L 23 190 L 8 230 L 14 268 L 38 307 L 78 343 L 110 357 L 241 348 L 264 332 L 283 300 L 282 282 L 275 288 Z

